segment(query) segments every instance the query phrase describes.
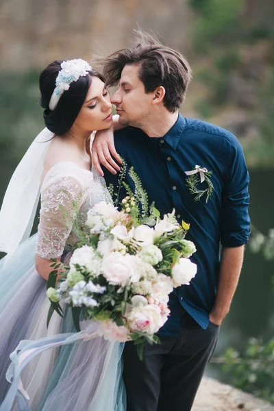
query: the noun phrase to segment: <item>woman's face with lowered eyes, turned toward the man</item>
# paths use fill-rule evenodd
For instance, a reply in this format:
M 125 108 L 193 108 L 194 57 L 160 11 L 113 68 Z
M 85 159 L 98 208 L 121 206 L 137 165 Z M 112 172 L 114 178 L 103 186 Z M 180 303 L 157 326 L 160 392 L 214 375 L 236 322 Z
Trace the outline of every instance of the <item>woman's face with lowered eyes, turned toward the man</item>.
M 92 84 L 86 101 L 75 120 L 75 125 L 83 131 L 108 129 L 112 125 L 112 105 L 110 94 L 98 77 L 92 77 Z

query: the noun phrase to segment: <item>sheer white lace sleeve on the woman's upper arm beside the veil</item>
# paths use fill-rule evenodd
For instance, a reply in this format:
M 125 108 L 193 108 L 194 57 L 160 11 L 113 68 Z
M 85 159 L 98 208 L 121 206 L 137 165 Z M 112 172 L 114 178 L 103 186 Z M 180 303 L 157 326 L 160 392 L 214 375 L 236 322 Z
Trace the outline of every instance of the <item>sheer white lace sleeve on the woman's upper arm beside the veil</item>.
M 83 201 L 84 190 L 79 180 L 73 176 L 53 177 L 42 186 L 36 241 L 38 256 L 47 259 L 62 256 Z

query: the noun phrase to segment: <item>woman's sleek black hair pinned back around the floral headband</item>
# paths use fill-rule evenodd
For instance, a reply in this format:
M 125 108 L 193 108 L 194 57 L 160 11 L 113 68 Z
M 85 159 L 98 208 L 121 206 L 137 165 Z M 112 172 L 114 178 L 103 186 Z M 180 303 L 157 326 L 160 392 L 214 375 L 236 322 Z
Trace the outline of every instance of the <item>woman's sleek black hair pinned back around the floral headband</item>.
M 55 109 L 49 109 L 49 101 L 55 89 L 55 80 L 61 70 L 64 60 L 55 60 L 42 71 L 39 79 L 40 105 L 44 108 L 44 121 L 46 127 L 54 134 L 62 136 L 71 129 L 79 111 L 84 104 L 88 90 L 92 84 L 92 77 L 98 77 L 105 82 L 103 76 L 92 69 L 86 76 L 79 77 L 77 82 L 72 82 L 69 90 L 64 91 Z

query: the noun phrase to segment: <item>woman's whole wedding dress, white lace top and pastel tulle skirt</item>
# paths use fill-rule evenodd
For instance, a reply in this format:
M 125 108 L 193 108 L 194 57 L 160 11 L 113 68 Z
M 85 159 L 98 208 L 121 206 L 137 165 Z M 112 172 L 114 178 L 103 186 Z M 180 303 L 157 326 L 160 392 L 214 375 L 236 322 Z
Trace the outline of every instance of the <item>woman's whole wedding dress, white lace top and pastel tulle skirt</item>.
M 110 201 L 110 195 L 96 173 L 72 162 L 56 164 L 42 182 L 38 234 L 23 242 L 5 266 L 0 262 L 0 404 L 10 388 L 5 380 L 9 356 L 19 341 L 73 332 L 66 308 L 64 319 L 54 313 L 47 329 L 49 300 L 46 282 L 35 269 L 35 253 L 64 259 L 66 244 L 75 242 L 76 213 L 85 215 L 103 200 Z M 123 345 L 97 337 L 43 352 L 23 371 L 31 408 L 17 404 L 12 410 L 124 411 L 122 351 Z

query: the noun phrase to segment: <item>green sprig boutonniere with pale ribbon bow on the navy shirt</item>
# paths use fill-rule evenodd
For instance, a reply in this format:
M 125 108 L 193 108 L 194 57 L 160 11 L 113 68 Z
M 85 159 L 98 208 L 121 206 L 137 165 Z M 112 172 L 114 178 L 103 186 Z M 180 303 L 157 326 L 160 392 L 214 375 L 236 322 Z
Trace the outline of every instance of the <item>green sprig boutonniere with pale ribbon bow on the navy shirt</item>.
M 192 195 L 195 195 L 194 201 L 199 201 L 201 197 L 206 195 L 207 203 L 214 191 L 214 186 L 210 179 L 212 171 L 208 171 L 206 167 L 195 166 L 195 169 L 185 171 L 185 173 L 189 176 L 186 179 L 186 186 L 188 187 L 188 191 Z M 198 190 L 197 185 L 199 183 L 204 183 L 204 185 L 206 186 L 204 190 Z

